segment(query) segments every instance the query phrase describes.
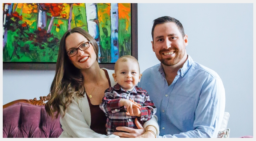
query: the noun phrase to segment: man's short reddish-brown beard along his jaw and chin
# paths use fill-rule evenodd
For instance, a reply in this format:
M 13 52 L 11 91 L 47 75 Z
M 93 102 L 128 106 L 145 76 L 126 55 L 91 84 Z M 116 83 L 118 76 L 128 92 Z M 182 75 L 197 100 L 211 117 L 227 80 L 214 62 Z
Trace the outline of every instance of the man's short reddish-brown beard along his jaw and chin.
M 177 63 L 179 63 L 180 62 L 180 60 L 182 60 L 182 58 L 184 57 L 184 55 L 185 55 L 185 48 L 184 49 L 182 49 L 182 50 L 176 50 L 175 51 L 175 56 L 174 56 L 174 58 L 165 58 L 165 59 L 163 59 L 163 58 L 160 58 L 160 56 L 159 57 L 157 57 L 158 58 L 158 60 L 163 64 L 163 65 L 166 65 L 166 66 L 173 66 L 173 65 L 176 65 Z

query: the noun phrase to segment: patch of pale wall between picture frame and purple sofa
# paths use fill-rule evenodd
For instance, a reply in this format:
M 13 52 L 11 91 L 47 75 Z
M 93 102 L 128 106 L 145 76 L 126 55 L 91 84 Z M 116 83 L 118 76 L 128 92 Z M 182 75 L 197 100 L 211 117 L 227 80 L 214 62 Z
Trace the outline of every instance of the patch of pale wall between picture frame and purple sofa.
M 3 105 L 17 99 L 39 100 L 50 92 L 55 71 L 3 70 Z

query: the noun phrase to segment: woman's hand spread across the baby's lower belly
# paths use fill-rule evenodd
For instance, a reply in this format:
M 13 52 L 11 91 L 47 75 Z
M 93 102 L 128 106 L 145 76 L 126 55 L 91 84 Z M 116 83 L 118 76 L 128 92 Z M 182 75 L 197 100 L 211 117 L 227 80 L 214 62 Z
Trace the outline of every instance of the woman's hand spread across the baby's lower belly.
M 129 127 L 117 127 L 116 129 L 119 131 L 125 131 L 125 132 L 114 132 L 114 135 L 117 135 L 119 137 L 138 137 L 141 136 L 145 132 L 145 129 L 141 126 L 138 119 L 135 119 L 135 125 L 138 129 L 129 128 Z M 150 133 L 149 133 L 150 134 Z M 154 135 L 153 135 L 154 136 Z

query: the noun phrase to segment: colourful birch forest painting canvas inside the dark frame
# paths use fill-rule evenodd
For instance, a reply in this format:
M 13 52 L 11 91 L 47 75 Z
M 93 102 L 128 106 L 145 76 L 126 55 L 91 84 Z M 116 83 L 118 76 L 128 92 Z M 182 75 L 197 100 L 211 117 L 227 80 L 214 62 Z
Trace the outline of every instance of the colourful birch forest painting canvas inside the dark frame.
M 131 4 L 3 3 L 3 62 L 54 63 L 59 42 L 81 27 L 95 38 L 99 63 L 131 55 Z

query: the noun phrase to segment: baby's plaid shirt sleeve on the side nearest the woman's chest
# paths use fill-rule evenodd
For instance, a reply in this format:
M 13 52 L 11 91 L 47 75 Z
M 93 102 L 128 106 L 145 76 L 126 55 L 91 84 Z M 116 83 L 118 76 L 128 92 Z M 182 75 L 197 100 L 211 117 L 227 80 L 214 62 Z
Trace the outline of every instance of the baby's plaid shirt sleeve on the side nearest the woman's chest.
M 100 104 L 100 109 L 103 110 L 107 115 L 114 114 L 120 111 L 119 101 L 121 99 L 114 99 L 113 90 L 111 87 L 105 90 L 104 97 L 102 98 L 102 103 Z

